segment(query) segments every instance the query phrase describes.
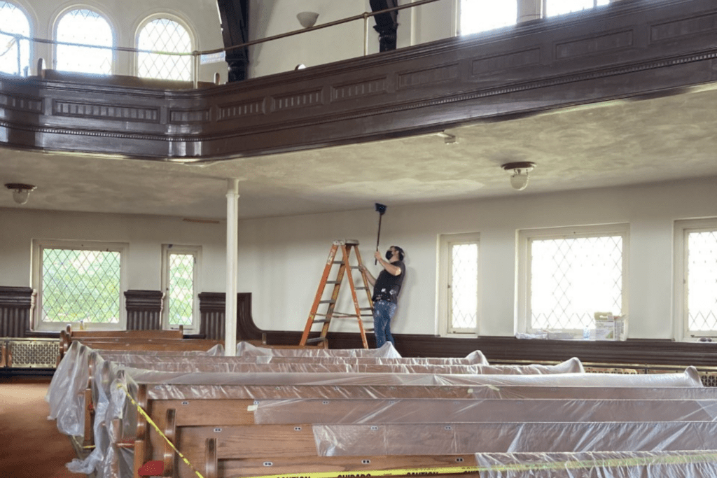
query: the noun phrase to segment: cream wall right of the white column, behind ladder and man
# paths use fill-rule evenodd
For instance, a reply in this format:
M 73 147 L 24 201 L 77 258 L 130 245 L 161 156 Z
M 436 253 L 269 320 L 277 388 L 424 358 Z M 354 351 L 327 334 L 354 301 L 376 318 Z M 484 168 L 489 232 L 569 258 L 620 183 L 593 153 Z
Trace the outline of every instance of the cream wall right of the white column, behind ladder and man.
M 454 204 L 389 205 L 381 251 L 399 245 L 407 252 L 407 283 L 391 330 L 438 333 L 438 234 L 480 232 L 481 335 L 513 335 L 518 229 L 627 222 L 630 337 L 672 338 L 673 221 L 709 216 L 717 216 L 717 178 L 544 195 L 516 193 L 511 198 Z M 332 240 L 359 239 L 364 262 L 369 262 L 377 221 L 371 206 L 364 211 L 242 221 L 239 290 L 252 292 L 257 325 L 302 330 Z M 378 270 L 373 261 L 370 267 Z M 350 310 L 348 303 L 343 307 Z M 332 330 L 355 329 L 332 325 Z

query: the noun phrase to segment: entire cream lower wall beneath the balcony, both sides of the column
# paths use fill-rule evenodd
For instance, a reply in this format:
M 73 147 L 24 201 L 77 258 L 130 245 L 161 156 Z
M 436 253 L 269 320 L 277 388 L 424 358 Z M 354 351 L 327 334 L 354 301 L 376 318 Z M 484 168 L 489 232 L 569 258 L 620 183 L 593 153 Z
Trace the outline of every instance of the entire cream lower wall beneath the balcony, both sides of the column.
M 241 200 L 240 200 L 241 201 Z M 241 204 L 240 204 L 241 207 Z M 407 252 L 392 330 L 437 330 L 437 236 L 480 233 L 481 335 L 513 335 L 516 231 L 581 224 L 630 224 L 630 338 L 672 338 L 673 222 L 717 216 L 717 178 L 670 184 L 514 196 L 452 204 L 391 206 L 381 252 Z M 252 292 L 260 328 L 303 330 L 334 239 L 359 239 L 364 262 L 376 244 L 379 214 L 361 211 L 252 219 L 239 224 L 239 291 Z M 129 244 L 130 289 L 158 290 L 161 244 L 200 244 L 202 291 L 224 291 L 225 225 L 180 218 L 0 209 L 0 285 L 30 285 L 32 239 L 85 239 Z M 349 311 L 348 294 L 337 310 Z M 356 330 L 348 324 L 332 330 Z

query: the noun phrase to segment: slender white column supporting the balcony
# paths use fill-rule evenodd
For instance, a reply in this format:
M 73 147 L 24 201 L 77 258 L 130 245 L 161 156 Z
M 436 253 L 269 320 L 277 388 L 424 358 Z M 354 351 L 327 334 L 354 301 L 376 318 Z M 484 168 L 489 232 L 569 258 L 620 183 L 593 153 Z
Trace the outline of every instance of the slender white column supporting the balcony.
M 227 180 L 227 299 L 224 355 L 237 355 L 237 273 L 239 270 L 239 180 Z

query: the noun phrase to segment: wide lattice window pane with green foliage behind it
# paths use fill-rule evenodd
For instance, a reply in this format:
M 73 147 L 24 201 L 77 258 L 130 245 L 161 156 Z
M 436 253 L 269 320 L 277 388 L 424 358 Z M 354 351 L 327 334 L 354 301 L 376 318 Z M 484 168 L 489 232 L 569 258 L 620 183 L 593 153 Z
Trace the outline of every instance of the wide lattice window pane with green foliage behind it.
M 120 253 L 42 250 L 42 321 L 120 321 Z

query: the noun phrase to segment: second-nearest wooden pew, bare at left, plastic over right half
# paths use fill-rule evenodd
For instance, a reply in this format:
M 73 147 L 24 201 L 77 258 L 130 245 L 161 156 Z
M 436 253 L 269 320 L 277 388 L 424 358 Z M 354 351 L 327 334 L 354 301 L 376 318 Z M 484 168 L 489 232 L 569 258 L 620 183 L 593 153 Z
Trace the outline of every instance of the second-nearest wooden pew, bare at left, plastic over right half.
M 171 423 L 171 413 L 168 414 L 168 421 Z M 557 453 L 576 449 L 608 451 L 612 449 L 611 444 L 618 441 L 612 436 L 619 436 L 622 441 L 619 441 L 621 445 L 618 449 L 622 451 L 652 451 L 651 444 L 641 439 L 651 426 L 654 424 L 631 421 L 186 426 L 175 431 L 174 439 L 179 439 L 179 447 L 186 459 L 195 467 L 201 467 L 199 470 L 206 478 L 332 469 L 380 475 L 384 469 L 435 468 L 457 464 L 475 466 L 475 453 L 503 453 L 510 450 L 516 440 L 516 451 Z M 317 428 L 320 439 L 316 437 Z M 328 432 L 322 434 L 323 429 Z M 338 439 L 333 438 L 332 431 L 336 430 Z M 171 428 L 168 431 L 171 435 Z M 660 424 L 654 435 L 655 441 L 662 440 L 660 451 L 708 451 L 716 446 L 714 431 L 717 431 L 717 424 L 712 421 L 665 422 Z M 533 439 L 521 440 L 520 436 L 532 436 Z M 592 441 L 590 446 L 584 447 L 584 437 Z M 635 445 L 630 446 L 631 442 Z M 212 449 L 216 450 L 214 454 Z M 328 453 L 333 456 L 327 456 Z M 186 478 L 192 475 L 191 470 L 179 467 L 174 457 L 167 456 L 164 463 L 164 476 Z M 203 466 L 197 465 L 199 463 Z M 213 470 L 217 473 L 214 474 Z

